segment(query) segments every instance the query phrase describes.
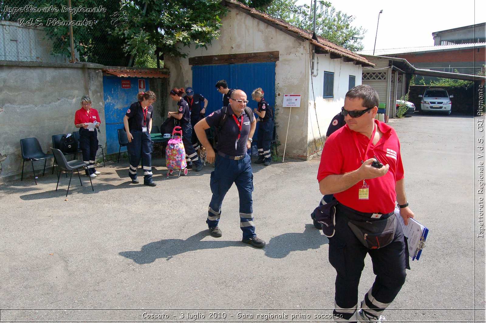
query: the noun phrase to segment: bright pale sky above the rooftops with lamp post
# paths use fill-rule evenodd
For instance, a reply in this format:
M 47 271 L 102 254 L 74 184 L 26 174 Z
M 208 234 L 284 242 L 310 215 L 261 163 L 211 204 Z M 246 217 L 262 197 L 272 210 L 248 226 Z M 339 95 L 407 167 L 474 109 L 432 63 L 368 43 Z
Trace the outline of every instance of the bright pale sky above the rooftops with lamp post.
M 355 19 L 353 25 L 367 30 L 364 50 L 373 50 L 378 13 L 380 24 L 376 49 L 433 46 L 433 32 L 486 22 L 485 0 L 330 0 L 336 10 Z M 310 5 L 313 0 L 298 0 Z

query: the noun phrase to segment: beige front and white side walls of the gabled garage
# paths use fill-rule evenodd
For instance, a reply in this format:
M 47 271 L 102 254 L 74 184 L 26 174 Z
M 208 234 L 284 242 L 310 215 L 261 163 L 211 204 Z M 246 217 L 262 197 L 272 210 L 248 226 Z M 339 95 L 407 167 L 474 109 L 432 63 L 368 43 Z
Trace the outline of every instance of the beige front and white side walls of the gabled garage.
M 262 51 L 279 51 L 279 61 L 275 65 L 275 105 L 277 109 L 277 134 L 281 145 L 278 153 L 284 150 L 285 137 L 288 127 L 286 156 L 308 158 L 313 152 L 322 148 L 315 146 L 320 141 L 319 125 L 322 136 L 325 136 L 327 127 L 338 109 L 344 102 L 347 92 L 348 75 L 356 76 L 356 85 L 361 84 L 361 67 L 353 63 L 344 63 L 341 59 L 331 60 L 329 55 L 320 56 L 318 70 L 335 72 L 333 99 L 322 99 L 323 74 L 314 78 L 314 94 L 317 104 L 317 119 L 315 117 L 314 99 L 311 97 L 310 75 L 310 51 L 308 42 L 301 42 L 296 38 L 281 32 L 275 27 L 261 22 L 241 11 L 232 10 L 222 20 L 223 27 L 219 39 L 212 42 L 208 50 L 183 48 L 188 54 L 187 58 L 164 58 L 164 67 L 171 70 L 169 88 L 192 84 L 192 71 L 189 65 L 189 57 L 201 55 L 220 55 L 250 53 Z M 271 46 L 269 46 L 271 44 Z M 320 83 L 319 80 L 320 79 Z M 211 80 L 214 83 L 217 80 Z M 208 80 L 209 82 L 209 80 Z M 315 82 L 318 84 L 316 85 Z M 284 94 L 301 94 L 301 106 L 299 108 L 282 108 Z M 309 102 L 312 100 L 312 104 Z M 169 100 L 170 101 L 170 100 Z M 168 102 L 171 104 L 171 102 Z M 311 109 L 312 107 L 312 109 Z M 289 121 L 290 114 L 290 121 Z M 317 123 L 316 120 L 319 122 Z M 325 130 L 324 130 L 325 128 Z M 315 139 L 314 139 L 315 138 Z

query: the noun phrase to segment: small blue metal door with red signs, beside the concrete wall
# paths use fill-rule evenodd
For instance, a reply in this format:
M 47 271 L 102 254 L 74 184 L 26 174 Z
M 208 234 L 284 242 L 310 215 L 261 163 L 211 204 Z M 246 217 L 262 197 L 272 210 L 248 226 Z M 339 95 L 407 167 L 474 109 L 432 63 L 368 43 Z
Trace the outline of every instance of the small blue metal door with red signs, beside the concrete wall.
M 106 122 L 106 153 L 118 153 L 118 129 L 123 128 L 123 117 L 130 104 L 137 101 L 139 80 L 145 81 L 145 91 L 149 90 L 148 79 L 136 77 L 103 77 L 104 118 Z M 143 86 L 143 83 L 142 83 Z M 121 147 L 126 152 L 126 147 Z

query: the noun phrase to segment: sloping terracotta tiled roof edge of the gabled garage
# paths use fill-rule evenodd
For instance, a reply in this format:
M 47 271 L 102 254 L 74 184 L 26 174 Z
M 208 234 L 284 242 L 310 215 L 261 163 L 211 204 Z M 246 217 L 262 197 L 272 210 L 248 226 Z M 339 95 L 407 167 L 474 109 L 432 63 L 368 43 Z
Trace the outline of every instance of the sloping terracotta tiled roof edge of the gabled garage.
M 277 29 L 280 29 L 284 32 L 294 34 L 297 38 L 300 38 L 301 40 L 308 40 L 310 41 L 313 45 L 316 47 L 320 48 L 322 51 L 329 52 L 331 54 L 338 55 L 343 58 L 347 58 L 349 60 L 355 61 L 359 64 L 362 64 L 364 66 L 374 66 L 373 63 L 369 62 L 366 58 L 352 52 L 348 51 L 347 49 L 336 45 L 326 38 L 323 38 L 321 36 L 317 36 L 317 40 L 312 39 L 312 31 L 308 31 L 305 29 L 301 29 L 298 27 L 295 27 L 294 25 L 289 24 L 288 22 L 278 19 L 275 17 L 272 17 L 270 15 L 267 15 L 260 10 L 257 10 L 255 8 L 251 8 L 239 1 L 235 0 L 225 0 L 226 5 L 228 5 L 231 8 L 236 8 L 239 10 L 242 10 L 243 12 L 246 12 L 252 17 L 255 17 L 259 20 L 263 20 Z

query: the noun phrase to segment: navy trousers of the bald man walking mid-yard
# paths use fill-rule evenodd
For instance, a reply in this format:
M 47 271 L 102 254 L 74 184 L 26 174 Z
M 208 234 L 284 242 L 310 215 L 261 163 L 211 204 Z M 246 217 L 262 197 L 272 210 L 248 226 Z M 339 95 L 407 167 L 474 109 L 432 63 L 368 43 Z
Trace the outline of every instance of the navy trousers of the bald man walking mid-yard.
M 240 196 L 240 228 L 243 238 L 256 237 L 253 223 L 253 171 L 251 169 L 250 155 L 243 159 L 233 160 L 216 155 L 214 170 L 211 172 L 212 198 L 208 209 L 208 227 L 218 226 L 221 216 L 221 205 L 229 188 L 235 183 Z

